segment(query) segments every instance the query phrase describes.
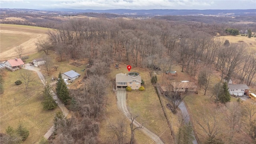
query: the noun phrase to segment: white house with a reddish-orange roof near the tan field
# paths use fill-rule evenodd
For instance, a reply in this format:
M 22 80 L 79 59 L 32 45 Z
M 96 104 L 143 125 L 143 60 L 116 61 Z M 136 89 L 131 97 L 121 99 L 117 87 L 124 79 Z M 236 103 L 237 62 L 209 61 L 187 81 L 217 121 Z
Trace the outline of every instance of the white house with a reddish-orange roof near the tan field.
M 13 60 L 6 60 L 4 66 L 11 71 L 15 71 L 19 68 L 24 68 L 25 64 L 20 58 L 15 58 Z

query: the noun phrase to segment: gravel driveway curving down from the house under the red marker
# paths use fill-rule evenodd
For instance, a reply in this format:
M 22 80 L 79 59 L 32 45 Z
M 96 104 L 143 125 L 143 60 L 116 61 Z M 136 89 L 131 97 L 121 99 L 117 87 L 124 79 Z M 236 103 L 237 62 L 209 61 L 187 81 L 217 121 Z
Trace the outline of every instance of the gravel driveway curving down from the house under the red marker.
M 123 114 L 128 118 L 127 114 L 129 114 L 129 111 L 126 106 L 126 90 L 116 90 L 116 97 L 117 97 L 117 106 L 118 109 L 123 112 Z M 130 120 L 131 122 L 131 120 Z M 139 122 L 134 120 L 134 126 L 141 126 Z M 148 135 L 152 140 L 156 142 L 156 144 L 164 144 L 164 142 L 160 139 L 158 135 L 156 135 L 154 132 L 151 132 L 144 126 L 141 129 L 146 135 Z

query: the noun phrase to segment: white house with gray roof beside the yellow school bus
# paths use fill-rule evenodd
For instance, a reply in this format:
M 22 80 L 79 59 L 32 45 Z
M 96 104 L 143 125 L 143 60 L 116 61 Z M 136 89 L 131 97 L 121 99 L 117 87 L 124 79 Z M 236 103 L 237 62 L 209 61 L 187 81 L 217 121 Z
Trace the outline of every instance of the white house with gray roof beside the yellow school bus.
M 246 84 L 228 84 L 228 91 L 231 95 L 243 96 L 249 89 Z

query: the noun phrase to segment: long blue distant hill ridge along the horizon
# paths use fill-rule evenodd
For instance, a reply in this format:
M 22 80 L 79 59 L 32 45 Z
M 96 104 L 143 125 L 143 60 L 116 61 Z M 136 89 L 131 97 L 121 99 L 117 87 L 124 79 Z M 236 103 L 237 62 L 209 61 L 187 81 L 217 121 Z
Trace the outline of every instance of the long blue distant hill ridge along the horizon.
M 92 13 L 112 13 L 122 15 L 138 15 L 138 16 L 165 16 L 165 15 L 219 15 L 219 16 L 255 16 L 256 9 L 248 10 L 168 10 L 168 9 L 153 9 L 153 10 L 130 10 L 130 9 L 114 9 L 114 10 L 78 10 L 78 9 L 44 9 L 47 11 L 61 12 L 92 12 Z

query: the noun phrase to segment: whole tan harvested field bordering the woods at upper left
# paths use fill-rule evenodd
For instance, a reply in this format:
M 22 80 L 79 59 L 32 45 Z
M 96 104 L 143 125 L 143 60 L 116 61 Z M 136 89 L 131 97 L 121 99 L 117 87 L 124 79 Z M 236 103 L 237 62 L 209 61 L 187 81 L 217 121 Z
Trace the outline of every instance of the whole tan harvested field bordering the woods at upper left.
M 48 28 L 41 28 L 36 26 L 23 26 L 15 24 L 0 24 L 1 34 L 1 51 L 0 60 L 7 60 L 9 58 L 17 57 L 18 54 L 14 52 L 17 45 L 24 46 L 24 55 L 35 53 L 37 40 L 47 38 Z

